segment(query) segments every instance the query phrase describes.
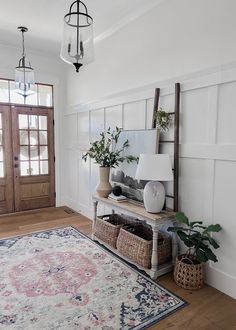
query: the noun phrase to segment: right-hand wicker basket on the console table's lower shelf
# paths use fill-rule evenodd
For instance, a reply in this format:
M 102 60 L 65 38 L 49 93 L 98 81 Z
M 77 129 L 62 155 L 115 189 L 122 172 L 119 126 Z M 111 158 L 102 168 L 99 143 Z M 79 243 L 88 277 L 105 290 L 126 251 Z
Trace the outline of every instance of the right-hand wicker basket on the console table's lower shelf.
M 120 229 L 117 249 L 125 257 L 142 267 L 150 268 L 152 255 L 152 229 L 148 225 L 128 225 Z M 158 233 L 158 264 L 171 259 L 171 237 Z

